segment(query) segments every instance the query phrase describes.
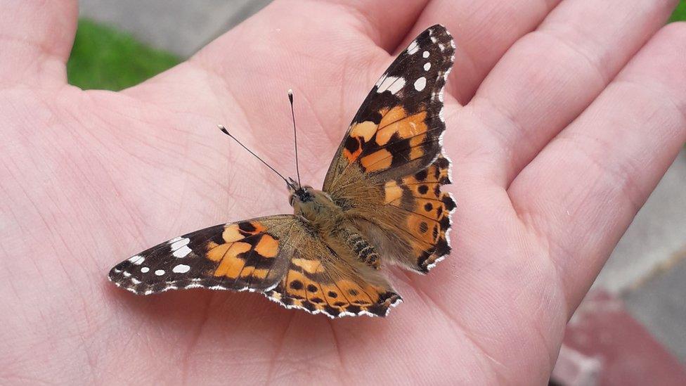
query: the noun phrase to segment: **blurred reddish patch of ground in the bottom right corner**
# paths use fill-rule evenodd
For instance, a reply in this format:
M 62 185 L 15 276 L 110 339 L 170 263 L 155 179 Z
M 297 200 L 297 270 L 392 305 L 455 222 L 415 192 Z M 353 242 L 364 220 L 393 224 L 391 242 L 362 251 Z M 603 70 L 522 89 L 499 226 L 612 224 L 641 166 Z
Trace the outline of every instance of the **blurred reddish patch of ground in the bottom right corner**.
M 567 323 L 551 384 L 686 385 L 686 370 L 621 300 L 595 290 Z

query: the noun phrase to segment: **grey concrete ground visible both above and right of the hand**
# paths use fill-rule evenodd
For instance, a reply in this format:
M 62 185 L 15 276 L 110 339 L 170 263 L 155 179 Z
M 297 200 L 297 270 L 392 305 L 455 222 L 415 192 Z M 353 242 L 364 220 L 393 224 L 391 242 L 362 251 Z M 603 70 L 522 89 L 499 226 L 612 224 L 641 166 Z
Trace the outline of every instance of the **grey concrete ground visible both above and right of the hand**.
M 271 0 L 81 0 L 81 15 L 190 56 Z M 619 295 L 633 316 L 686 364 L 686 153 L 639 212 L 595 287 Z

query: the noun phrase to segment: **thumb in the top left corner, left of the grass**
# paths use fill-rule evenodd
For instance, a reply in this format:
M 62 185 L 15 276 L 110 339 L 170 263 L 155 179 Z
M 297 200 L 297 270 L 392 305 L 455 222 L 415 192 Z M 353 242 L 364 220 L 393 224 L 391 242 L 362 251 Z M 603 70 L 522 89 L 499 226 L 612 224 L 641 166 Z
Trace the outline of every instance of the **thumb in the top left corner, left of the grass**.
M 78 2 L 0 0 L 0 8 L 0 82 L 64 84 Z

